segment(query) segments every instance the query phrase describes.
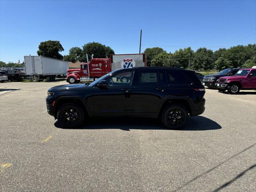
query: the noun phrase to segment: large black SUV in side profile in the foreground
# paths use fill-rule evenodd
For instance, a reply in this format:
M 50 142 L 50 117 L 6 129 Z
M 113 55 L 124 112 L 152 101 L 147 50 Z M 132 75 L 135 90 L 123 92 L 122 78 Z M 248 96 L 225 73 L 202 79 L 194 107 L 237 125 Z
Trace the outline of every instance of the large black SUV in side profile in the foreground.
M 65 128 L 78 127 L 87 117 L 141 116 L 160 118 L 166 127 L 178 129 L 188 115 L 204 112 L 204 94 L 194 71 L 135 67 L 114 70 L 89 85 L 52 87 L 46 105 L 48 114 Z

